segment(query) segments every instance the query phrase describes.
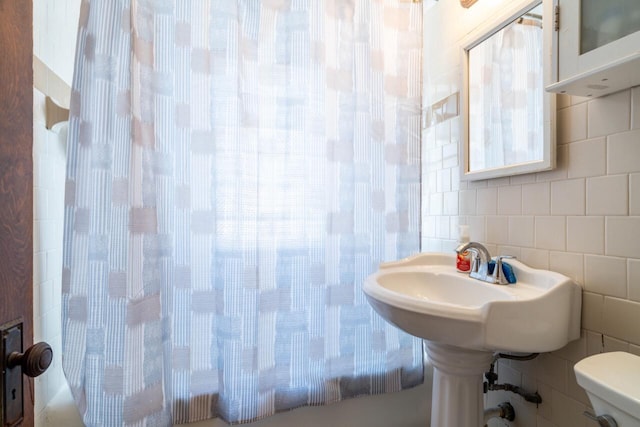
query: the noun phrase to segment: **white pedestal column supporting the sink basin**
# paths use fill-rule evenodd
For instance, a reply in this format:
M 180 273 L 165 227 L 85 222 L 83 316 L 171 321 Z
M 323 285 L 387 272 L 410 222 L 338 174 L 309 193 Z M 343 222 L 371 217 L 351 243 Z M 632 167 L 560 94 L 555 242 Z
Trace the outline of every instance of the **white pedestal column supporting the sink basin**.
M 431 427 L 483 425 L 483 374 L 493 353 L 426 341 L 433 365 Z

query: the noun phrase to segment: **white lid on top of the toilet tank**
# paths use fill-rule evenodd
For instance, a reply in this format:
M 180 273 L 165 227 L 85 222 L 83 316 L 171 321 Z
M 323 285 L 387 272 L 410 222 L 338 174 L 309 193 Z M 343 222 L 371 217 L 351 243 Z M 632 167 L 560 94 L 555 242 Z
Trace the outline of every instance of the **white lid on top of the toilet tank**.
M 640 357 L 616 351 L 582 359 L 573 367 L 585 390 L 640 419 Z

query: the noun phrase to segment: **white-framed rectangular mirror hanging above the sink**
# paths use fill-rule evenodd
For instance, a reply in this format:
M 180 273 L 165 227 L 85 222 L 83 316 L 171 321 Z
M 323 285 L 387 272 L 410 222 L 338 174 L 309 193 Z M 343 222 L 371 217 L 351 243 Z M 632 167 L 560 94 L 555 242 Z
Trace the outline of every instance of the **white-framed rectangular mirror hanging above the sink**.
M 509 2 L 506 13 L 463 42 L 463 179 L 555 167 L 555 95 L 544 90 L 551 77 L 551 3 Z

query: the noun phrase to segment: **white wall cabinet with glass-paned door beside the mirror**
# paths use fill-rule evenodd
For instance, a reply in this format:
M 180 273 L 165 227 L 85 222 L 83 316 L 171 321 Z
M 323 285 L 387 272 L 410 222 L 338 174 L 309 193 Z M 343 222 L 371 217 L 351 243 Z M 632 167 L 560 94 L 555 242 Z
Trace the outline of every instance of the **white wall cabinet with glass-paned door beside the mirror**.
M 640 73 L 640 1 L 558 0 L 558 5 L 560 83 L 571 81 L 568 89 L 574 89 L 579 79 L 588 78 L 584 90 L 595 89 L 594 96 L 638 84 L 631 74 Z

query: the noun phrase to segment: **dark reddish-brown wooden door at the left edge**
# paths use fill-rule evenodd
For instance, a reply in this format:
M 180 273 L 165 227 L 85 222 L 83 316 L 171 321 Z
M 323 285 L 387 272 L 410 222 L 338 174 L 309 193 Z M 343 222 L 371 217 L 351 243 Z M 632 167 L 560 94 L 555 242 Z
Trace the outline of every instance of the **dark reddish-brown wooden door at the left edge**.
M 21 319 L 33 341 L 32 2 L 0 0 L 0 325 Z M 1 373 L 0 373 L 1 375 Z M 33 379 L 24 376 L 23 426 L 33 426 Z

